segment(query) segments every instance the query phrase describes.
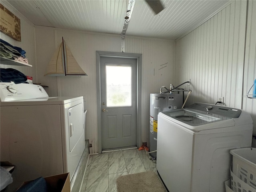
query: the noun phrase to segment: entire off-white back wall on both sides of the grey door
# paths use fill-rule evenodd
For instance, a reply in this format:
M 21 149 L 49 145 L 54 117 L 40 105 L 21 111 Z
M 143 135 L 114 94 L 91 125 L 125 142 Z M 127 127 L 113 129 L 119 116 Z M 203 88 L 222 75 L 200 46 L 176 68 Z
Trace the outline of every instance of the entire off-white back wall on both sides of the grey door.
M 120 52 L 119 35 L 88 33 L 48 27 L 35 27 L 38 60 L 38 80 L 49 88 L 50 96 L 84 96 L 86 138 L 92 143 L 92 153 L 98 152 L 96 51 Z M 62 36 L 74 58 L 88 74 L 82 77 L 46 77 L 46 66 L 60 44 Z M 125 52 L 142 54 L 142 142 L 148 142 L 149 95 L 173 81 L 174 42 L 150 38 L 125 37 Z M 167 67 L 159 70 L 161 64 Z M 170 72 L 170 73 L 169 73 Z

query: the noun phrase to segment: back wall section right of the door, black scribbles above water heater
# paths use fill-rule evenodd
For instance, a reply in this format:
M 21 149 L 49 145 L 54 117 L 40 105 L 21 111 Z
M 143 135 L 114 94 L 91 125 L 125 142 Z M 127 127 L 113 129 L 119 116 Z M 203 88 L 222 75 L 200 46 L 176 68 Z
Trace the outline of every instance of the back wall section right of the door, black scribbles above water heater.
M 150 93 L 159 93 L 161 86 L 168 88 L 174 82 L 175 44 L 170 40 L 126 37 L 125 46 L 126 52 L 142 53 L 142 142 L 149 142 Z

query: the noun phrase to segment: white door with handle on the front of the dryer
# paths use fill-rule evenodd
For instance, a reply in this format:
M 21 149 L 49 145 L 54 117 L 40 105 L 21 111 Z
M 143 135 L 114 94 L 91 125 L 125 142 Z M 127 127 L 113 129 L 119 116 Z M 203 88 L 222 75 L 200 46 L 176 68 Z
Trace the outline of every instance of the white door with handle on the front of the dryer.
M 84 132 L 82 103 L 68 109 L 69 151 L 71 152 Z

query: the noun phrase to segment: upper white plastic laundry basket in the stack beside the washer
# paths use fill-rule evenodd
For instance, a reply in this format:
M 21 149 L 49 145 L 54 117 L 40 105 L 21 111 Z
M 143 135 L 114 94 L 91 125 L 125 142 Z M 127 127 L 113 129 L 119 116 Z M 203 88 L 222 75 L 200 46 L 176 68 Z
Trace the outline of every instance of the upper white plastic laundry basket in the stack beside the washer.
M 230 153 L 233 156 L 234 175 L 256 191 L 256 148 L 232 149 Z

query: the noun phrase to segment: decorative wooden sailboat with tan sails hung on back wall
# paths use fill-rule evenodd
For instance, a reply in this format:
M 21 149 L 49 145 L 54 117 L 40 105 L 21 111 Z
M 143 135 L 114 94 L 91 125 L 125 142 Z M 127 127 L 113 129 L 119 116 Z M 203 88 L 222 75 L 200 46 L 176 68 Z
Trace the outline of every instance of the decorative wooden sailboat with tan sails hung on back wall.
M 70 48 L 62 43 L 54 52 L 44 76 L 87 76 L 72 55 Z

